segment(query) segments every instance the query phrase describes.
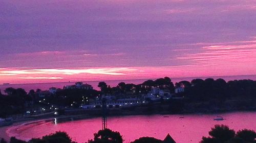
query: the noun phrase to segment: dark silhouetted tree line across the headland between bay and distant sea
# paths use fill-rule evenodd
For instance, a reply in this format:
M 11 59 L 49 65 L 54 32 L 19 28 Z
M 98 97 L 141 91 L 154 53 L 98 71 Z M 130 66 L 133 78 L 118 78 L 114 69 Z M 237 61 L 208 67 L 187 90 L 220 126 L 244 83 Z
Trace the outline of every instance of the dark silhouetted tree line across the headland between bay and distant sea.
M 192 81 L 180 81 L 173 83 L 168 77 L 159 78 L 156 80 L 146 80 L 141 84 L 120 82 L 117 86 L 111 87 L 105 82 L 99 82 L 100 91 L 94 89 L 58 89 L 55 94 L 47 96 L 44 101 L 40 101 L 36 91 L 30 90 L 28 93 L 22 89 L 14 89 L 12 87 L 4 90 L 5 94 L 0 91 L 0 117 L 5 117 L 11 114 L 25 112 L 25 103 L 33 102 L 40 106 L 54 104 L 59 107 L 76 107 L 81 104 L 90 104 L 90 100 L 95 100 L 96 97 L 101 98 L 102 94 L 110 94 L 119 98 L 125 98 L 127 95 L 135 95 L 140 98 L 142 94 L 151 91 L 152 87 L 158 87 L 165 91 L 174 94 L 176 87 L 183 87 L 184 92 L 178 93 L 184 97 L 184 101 L 180 103 L 172 102 L 173 105 L 178 104 L 179 110 L 183 105 L 190 103 L 202 103 L 200 106 L 205 107 L 220 107 L 225 101 L 236 101 L 236 108 L 245 107 L 246 109 L 254 108 L 256 101 L 256 81 L 253 80 L 233 80 L 226 82 L 223 79 L 194 79 Z M 204 105 L 209 103 L 208 105 Z M 172 109 L 173 110 L 173 109 Z

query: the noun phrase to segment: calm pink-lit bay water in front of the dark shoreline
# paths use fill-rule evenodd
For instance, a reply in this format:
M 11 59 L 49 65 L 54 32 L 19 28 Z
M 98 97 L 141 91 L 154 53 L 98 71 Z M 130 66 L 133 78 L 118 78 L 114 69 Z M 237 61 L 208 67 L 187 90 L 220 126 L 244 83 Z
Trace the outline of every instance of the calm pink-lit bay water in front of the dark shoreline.
M 168 117 L 164 117 L 168 116 Z M 180 118 L 180 117 L 184 118 Z M 214 121 L 216 116 L 226 120 Z M 167 133 L 181 142 L 199 142 L 202 136 L 216 124 L 228 125 L 236 131 L 240 129 L 256 130 L 256 112 L 233 112 L 225 114 L 191 114 L 191 115 L 136 115 L 109 117 L 108 127 L 119 131 L 124 142 L 130 142 L 142 136 L 164 139 Z M 93 138 L 93 133 L 101 129 L 101 118 L 72 121 L 66 123 L 39 122 L 10 128 L 9 134 L 18 138 L 29 139 L 41 137 L 55 131 L 66 131 L 78 142 L 86 142 Z

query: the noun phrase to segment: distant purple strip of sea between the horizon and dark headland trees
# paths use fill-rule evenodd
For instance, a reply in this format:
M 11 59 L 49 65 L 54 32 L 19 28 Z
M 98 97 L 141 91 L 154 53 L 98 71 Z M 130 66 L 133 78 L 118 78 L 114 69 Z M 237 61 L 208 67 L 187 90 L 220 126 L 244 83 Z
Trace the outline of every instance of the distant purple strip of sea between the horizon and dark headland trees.
M 207 79 L 207 78 L 213 78 L 213 79 L 219 79 L 222 78 L 225 81 L 230 81 L 230 80 L 242 80 L 242 79 L 250 79 L 250 80 L 256 80 L 256 75 L 243 75 L 243 76 L 213 76 L 213 77 L 185 77 L 185 78 L 171 78 L 172 82 L 175 84 L 176 82 L 180 82 L 183 80 L 186 81 L 191 81 L 193 79 Z M 133 83 L 133 84 L 140 84 L 143 83 L 144 81 L 149 80 L 149 79 L 133 79 L 133 80 L 108 80 L 104 81 L 106 84 L 110 85 L 111 87 L 117 86 L 118 83 L 120 82 L 125 82 L 127 83 Z M 155 79 L 152 79 L 155 80 Z M 78 82 L 78 81 L 75 81 Z M 4 90 L 8 87 L 13 87 L 13 88 L 23 88 L 27 92 L 31 89 L 41 89 L 41 90 L 49 90 L 50 87 L 57 87 L 57 88 L 63 88 L 63 86 L 66 85 L 74 85 L 74 81 L 72 82 L 51 82 L 51 83 L 27 83 L 27 84 L 9 84 L 9 85 L 0 85 L 0 90 L 2 93 L 4 93 Z M 87 83 L 93 86 L 94 89 L 99 90 L 98 83 L 102 81 L 82 81 L 83 83 Z

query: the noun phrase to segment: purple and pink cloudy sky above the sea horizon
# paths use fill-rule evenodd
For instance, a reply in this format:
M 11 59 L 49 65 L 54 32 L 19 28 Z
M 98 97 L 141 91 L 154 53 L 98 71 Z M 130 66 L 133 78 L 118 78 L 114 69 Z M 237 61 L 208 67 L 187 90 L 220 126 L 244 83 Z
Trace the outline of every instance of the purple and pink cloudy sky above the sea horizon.
M 0 84 L 256 74 L 256 1 L 0 1 Z

